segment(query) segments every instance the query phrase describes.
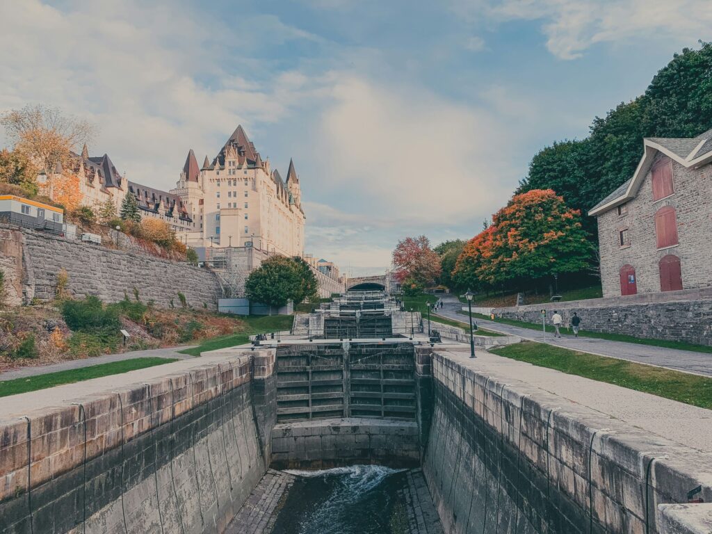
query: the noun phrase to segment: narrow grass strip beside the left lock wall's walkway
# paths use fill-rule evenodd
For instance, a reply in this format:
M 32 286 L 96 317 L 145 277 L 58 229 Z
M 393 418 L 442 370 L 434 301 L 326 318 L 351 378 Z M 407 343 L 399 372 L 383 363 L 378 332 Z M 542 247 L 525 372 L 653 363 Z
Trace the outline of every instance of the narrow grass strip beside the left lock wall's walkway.
M 154 367 L 155 365 L 163 365 L 164 363 L 176 361 L 177 358 L 132 358 L 131 360 L 123 360 L 121 362 L 103 363 L 100 365 L 82 367 L 80 369 L 49 372 L 33 377 L 4 380 L 0 381 L 0 397 L 37 391 L 38 389 L 59 386 L 61 384 L 83 382 L 84 380 L 90 380 L 92 378 L 120 375 L 123 372 L 145 369 L 146 367 Z

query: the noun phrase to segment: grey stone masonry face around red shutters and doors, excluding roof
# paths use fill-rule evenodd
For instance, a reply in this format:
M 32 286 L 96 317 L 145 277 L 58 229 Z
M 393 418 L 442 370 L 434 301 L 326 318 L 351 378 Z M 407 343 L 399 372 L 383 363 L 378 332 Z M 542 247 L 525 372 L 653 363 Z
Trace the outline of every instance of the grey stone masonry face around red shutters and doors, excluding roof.
M 666 157 L 658 155 L 657 159 Z M 683 288 L 712 286 L 712 165 L 686 169 L 673 162 L 675 192 L 653 201 L 650 172 L 627 215 L 611 209 L 598 217 L 601 279 L 604 297 L 620 295 L 619 271 L 626 264 L 636 271 L 638 293 L 660 290 L 658 261 L 666 254 L 680 258 Z M 655 213 L 663 206 L 676 210 L 679 245 L 658 250 Z M 630 245 L 620 246 L 619 231 L 628 229 Z

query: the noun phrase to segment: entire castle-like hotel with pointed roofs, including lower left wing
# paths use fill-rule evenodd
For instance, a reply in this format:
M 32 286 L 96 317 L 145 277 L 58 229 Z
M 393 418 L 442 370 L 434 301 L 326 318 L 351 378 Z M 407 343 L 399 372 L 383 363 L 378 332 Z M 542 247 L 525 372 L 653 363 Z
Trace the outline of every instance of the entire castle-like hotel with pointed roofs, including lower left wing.
M 125 195 L 138 201 L 142 217 L 161 219 L 188 246 L 253 246 L 285 256 L 302 256 L 305 215 L 299 177 L 290 161 L 286 178 L 271 169 L 238 126 L 212 161 L 199 167 L 193 150 L 169 192 L 130 182 L 108 155 L 74 155 L 83 204 L 98 210 L 108 200 L 120 209 Z M 58 169 L 61 172 L 61 169 Z

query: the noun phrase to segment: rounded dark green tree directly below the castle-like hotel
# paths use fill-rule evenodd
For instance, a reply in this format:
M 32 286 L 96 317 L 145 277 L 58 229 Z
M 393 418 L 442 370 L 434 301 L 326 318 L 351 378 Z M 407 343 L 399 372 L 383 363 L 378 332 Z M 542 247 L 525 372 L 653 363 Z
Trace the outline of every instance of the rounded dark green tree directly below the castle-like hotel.
M 293 258 L 272 256 L 252 271 L 245 281 L 247 298 L 253 303 L 283 306 L 303 293 L 300 268 Z

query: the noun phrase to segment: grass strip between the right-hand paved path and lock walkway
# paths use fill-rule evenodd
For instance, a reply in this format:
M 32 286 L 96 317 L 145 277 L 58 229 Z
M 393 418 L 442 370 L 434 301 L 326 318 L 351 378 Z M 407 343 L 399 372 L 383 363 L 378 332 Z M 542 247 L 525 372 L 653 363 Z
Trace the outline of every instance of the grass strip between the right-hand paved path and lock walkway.
M 596 356 L 533 341 L 495 347 L 491 352 L 512 360 L 565 372 L 567 375 L 590 378 L 712 409 L 712 378 Z

